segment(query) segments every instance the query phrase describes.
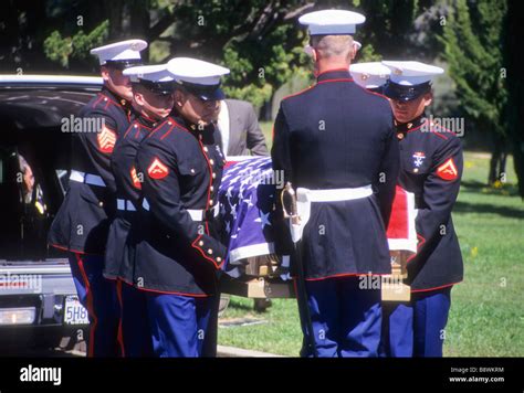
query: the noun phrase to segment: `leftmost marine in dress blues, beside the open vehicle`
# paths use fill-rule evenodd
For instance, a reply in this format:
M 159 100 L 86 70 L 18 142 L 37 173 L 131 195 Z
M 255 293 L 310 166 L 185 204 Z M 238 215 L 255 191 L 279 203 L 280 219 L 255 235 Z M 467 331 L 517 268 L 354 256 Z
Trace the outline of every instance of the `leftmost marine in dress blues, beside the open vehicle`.
M 94 357 L 114 357 L 119 351 L 116 289 L 103 277 L 107 231 L 116 211 L 111 155 L 132 119 L 130 89 L 122 70 L 139 63 L 146 46 L 145 41 L 129 40 L 91 51 L 98 55 L 105 82 L 80 116 L 103 123 L 99 129 L 73 135 L 70 185 L 49 233 L 50 245 L 69 252 L 78 298 L 90 316 L 87 354 Z

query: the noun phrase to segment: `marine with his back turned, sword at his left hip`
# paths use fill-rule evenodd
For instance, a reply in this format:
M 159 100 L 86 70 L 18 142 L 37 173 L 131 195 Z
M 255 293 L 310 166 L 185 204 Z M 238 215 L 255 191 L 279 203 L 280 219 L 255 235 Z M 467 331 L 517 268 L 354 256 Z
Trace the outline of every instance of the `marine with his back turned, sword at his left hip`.
M 310 26 L 317 83 L 284 98 L 274 124 L 273 169 L 284 171 L 298 200 L 302 193 L 311 202 L 305 205 L 311 211 L 302 233 L 302 263 L 319 357 L 378 355 L 380 290 L 361 287 L 361 275 L 390 273 L 385 227 L 399 151 L 388 100 L 355 84 L 349 74 L 349 35 L 364 19 L 333 10 L 300 19 Z M 326 51 L 336 51 L 344 40 L 340 55 L 323 52 L 333 41 L 335 47 Z M 277 226 L 283 227 L 282 221 Z M 289 253 L 289 237 L 281 232 L 279 254 Z M 303 349 L 302 355 L 312 353 Z

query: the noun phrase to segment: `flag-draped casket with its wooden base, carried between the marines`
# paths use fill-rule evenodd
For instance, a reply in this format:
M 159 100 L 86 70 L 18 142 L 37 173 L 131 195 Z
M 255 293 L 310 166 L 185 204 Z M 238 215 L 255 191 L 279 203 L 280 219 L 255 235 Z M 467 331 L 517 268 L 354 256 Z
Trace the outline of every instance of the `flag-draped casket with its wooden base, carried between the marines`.
M 283 188 L 270 157 L 228 157 L 219 189 L 222 242 L 228 246 L 222 291 L 254 297 L 294 296 L 289 258 L 274 253 L 271 213 L 274 195 Z M 406 264 L 417 252 L 415 197 L 396 189 L 388 243 L 392 274 L 382 277 L 384 300 L 409 300 Z

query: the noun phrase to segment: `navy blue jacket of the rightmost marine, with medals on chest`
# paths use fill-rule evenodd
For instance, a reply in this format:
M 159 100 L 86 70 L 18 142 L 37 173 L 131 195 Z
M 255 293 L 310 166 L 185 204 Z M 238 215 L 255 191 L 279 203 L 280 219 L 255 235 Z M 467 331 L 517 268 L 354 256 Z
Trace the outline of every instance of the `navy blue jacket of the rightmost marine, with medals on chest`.
M 419 240 L 408 259 L 412 291 L 438 289 L 462 280 L 463 264 L 451 219 L 462 177 L 460 139 L 432 125 L 425 115 L 397 126 L 400 140 L 399 184 L 415 193 Z

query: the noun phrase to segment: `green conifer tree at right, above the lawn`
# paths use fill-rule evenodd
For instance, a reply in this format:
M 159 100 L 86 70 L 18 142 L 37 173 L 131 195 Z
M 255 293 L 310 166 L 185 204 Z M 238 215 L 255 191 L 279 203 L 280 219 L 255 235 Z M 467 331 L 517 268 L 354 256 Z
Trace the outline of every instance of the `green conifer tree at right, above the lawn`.
M 480 130 L 493 136 L 490 183 L 505 177 L 507 89 L 501 42 L 506 12 L 505 1 L 457 0 L 443 33 L 444 57 L 461 108 Z

